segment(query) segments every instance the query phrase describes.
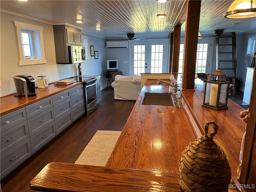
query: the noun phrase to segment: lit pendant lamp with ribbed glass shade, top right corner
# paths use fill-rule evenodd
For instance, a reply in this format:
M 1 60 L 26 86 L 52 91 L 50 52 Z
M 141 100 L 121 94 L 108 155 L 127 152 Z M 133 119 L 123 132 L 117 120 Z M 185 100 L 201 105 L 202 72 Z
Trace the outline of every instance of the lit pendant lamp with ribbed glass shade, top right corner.
M 224 13 L 225 18 L 256 17 L 256 0 L 234 0 Z

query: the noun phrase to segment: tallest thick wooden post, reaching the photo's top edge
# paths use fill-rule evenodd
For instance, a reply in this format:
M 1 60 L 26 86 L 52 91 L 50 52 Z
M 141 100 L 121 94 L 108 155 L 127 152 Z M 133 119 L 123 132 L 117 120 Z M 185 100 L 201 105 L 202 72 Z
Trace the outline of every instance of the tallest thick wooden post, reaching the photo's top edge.
M 200 7 L 201 1 L 188 1 L 182 75 L 182 89 L 184 90 L 194 90 Z

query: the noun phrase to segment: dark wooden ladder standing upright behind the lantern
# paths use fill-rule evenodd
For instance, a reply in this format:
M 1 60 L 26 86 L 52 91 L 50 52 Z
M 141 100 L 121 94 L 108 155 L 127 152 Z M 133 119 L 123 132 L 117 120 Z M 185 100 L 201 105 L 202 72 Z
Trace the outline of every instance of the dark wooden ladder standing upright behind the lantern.
M 226 74 L 236 94 L 236 33 L 216 37 L 216 64 Z M 232 80 L 231 80 L 232 79 Z

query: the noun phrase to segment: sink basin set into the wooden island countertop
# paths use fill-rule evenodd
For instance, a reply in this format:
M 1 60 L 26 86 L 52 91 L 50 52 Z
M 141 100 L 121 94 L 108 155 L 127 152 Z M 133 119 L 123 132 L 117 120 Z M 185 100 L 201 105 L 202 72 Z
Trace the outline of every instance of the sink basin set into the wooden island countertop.
M 145 93 L 141 104 L 175 106 L 172 94 L 168 93 Z

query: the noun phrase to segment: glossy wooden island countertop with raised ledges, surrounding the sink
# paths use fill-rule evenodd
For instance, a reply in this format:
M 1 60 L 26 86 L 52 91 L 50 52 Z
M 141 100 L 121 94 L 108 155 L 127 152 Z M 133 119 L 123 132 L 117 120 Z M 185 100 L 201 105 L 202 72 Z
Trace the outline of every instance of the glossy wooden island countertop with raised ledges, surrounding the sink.
M 236 178 L 245 131 L 245 123 L 239 117 L 243 109 L 231 100 L 228 100 L 229 108 L 226 110 L 202 108 L 204 83 L 199 79 L 195 80 L 195 91 L 182 91 L 181 108 L 140 105 L 145 92 L 168 92 L 169 86 L 156 85 L 157 81 L 146 81 L 106 167 L 53 162 L 30 182 L 31 189 L 46 192 L 67 191 L 65 189 L 75 192 L 100 192 L 102 189 L 106 192 L 182 192 L 178 185 L 181 154 L 190 142 L 198 138 L 204 124 L 210 120 L 219 125 L 214 140 L 224 148 L 232 178 Z M 209 128 L 210 133 L 212 127 Z M 127 173 L 124 173 L 126 170 Z M 100 180 L 95 180 L 98 177 Z

